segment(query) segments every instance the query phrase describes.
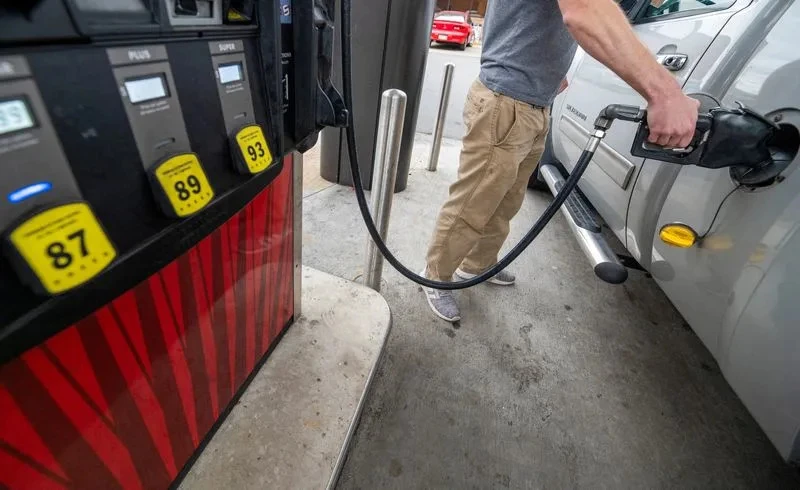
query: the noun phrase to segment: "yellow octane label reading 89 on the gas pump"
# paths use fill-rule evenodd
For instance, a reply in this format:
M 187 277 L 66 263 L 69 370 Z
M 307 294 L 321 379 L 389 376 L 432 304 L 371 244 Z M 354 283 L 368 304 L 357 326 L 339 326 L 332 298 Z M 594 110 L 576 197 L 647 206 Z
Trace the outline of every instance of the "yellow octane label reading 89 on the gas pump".
M 163 161 L 155 168 L 155 176 L 172 210 L 181 218 L 203 209 L 214 199 L 214 189 L 194 153 Z

